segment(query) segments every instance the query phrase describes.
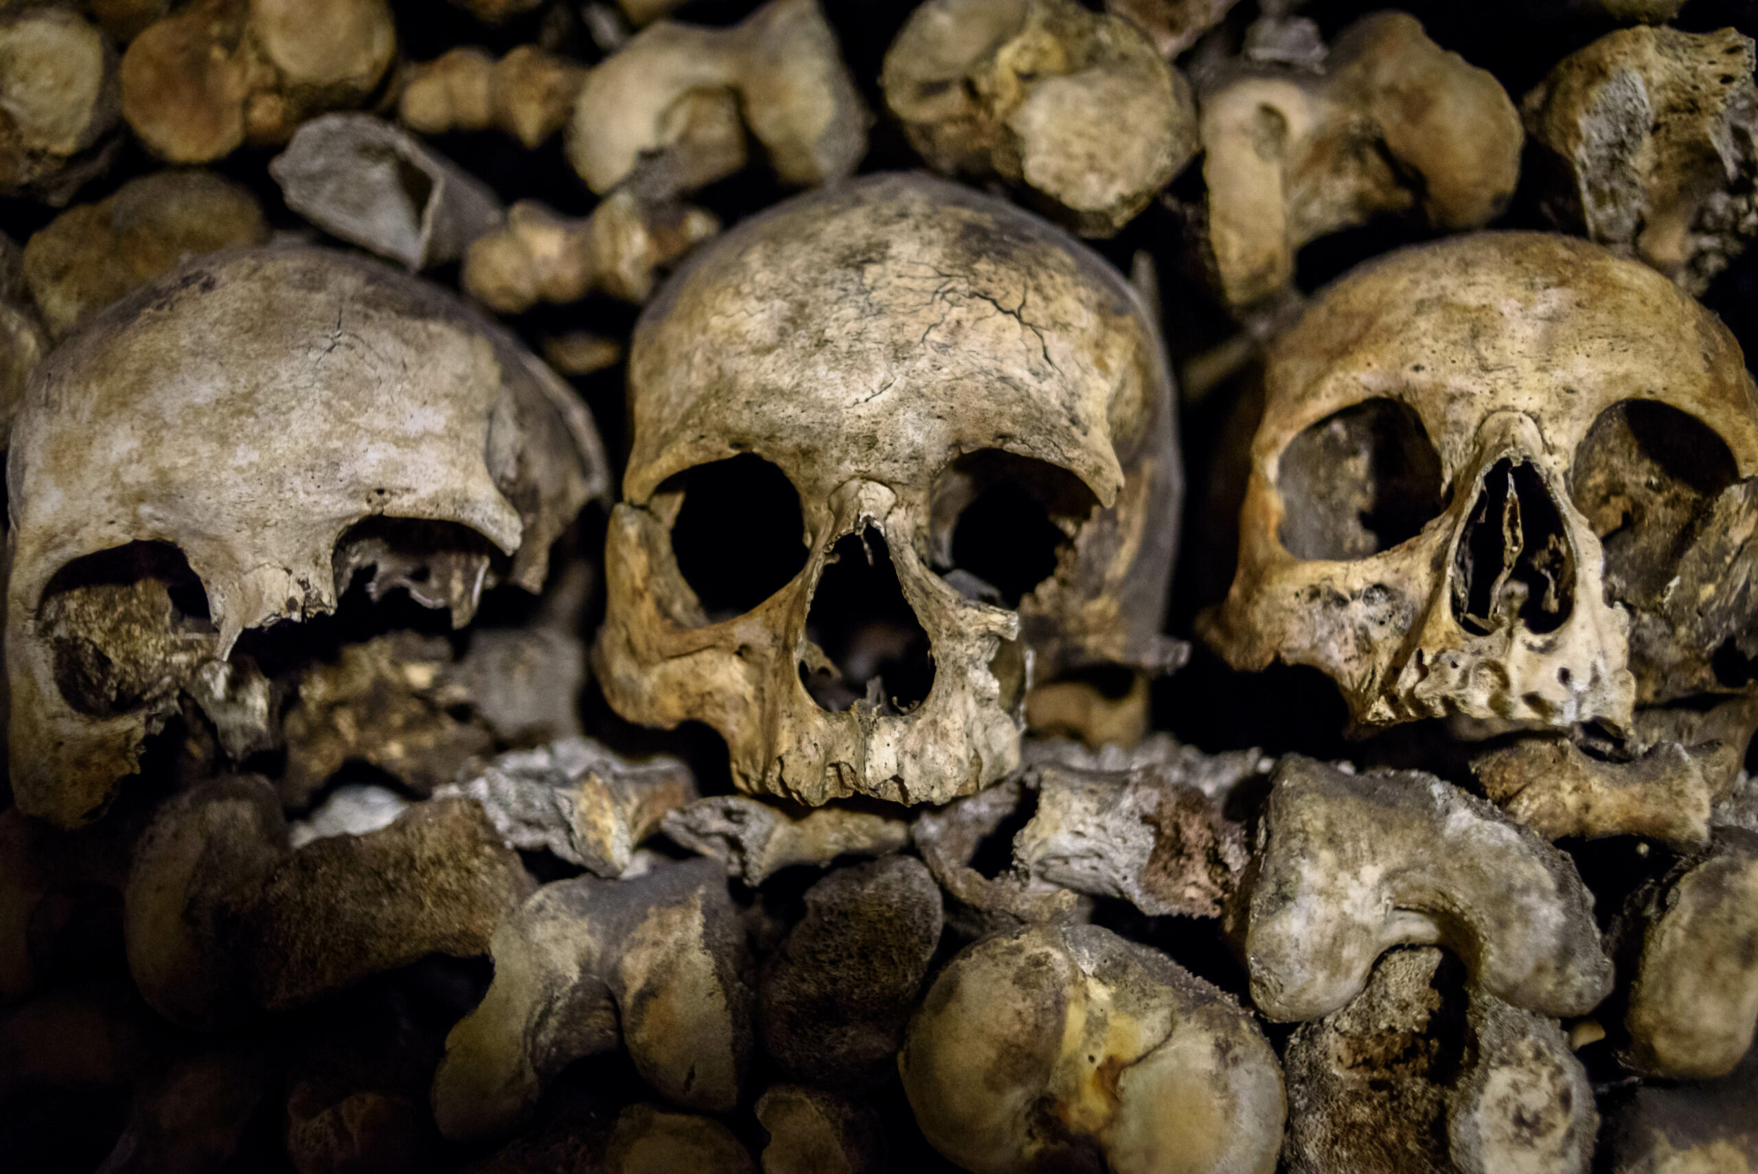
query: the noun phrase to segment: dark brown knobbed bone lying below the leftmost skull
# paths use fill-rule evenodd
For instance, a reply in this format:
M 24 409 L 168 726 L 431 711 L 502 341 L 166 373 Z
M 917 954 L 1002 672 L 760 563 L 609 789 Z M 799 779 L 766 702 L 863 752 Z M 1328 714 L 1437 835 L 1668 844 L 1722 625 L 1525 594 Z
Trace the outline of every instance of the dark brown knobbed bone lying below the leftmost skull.
M 216 1028 L 425 954 L 483 954 L 529 884 L 475 803 L 288 852 L 272 787 L 218 779 L 160 808 L 135 851 L 128 970 L 167 1019 Z

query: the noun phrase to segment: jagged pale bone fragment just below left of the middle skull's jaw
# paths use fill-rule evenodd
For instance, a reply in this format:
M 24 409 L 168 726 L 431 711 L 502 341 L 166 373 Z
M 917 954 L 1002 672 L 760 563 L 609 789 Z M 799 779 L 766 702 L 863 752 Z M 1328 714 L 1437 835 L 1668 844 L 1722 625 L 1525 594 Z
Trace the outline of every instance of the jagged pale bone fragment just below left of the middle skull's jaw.
M 629 761 L 587 738 L 499 756 L 469 780 L 440 787 L 482 803 L 510 847 L 548 849 L 617 877 L 663 819 L 696 798 L 680 759 Z

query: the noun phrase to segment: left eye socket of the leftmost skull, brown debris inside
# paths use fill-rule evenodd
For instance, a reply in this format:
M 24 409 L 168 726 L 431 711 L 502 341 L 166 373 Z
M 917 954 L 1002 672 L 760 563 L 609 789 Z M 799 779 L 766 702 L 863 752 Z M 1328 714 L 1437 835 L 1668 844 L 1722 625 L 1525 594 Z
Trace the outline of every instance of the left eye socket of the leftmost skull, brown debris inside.
M 218 647 L 202 582 L 163 541 L 74 559 L 42 592 L 39 624 L 56 689 L 91 717 L 172 701 Z

